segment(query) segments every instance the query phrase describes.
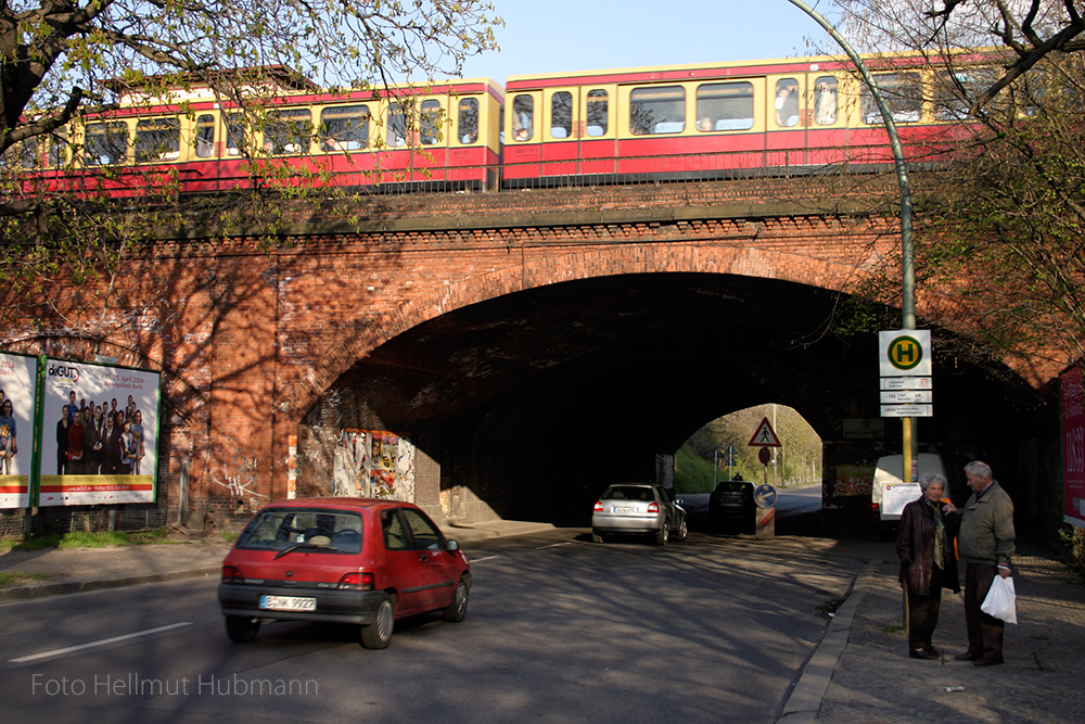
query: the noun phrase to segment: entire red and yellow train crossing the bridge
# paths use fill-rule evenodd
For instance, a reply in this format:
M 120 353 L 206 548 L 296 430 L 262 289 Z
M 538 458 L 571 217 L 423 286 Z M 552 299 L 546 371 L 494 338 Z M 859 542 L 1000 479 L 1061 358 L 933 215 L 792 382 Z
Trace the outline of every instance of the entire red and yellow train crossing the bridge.
M 914 160 L 944 151 L 947 125 L 967 112 L 955 89 L 988 78 L 980 56 L 960 60 L 972 65 L 949 71 L 919 56 L 868 60 Z M 270 77 L 273 98 L 256 123 L 245 116 L 251 109 L 216 100 L 207 86 L 153 101 L 122 96 L 116 110 L 9 153 L 9 168 L 22 169 L 24 193 L 44 186 L 125 196 L 148 188 L 195 194 L 269 182 L 497 189 L 891 160 L 881 114 L 842 58 L 376 91 L 324 91 L 284 68 Z

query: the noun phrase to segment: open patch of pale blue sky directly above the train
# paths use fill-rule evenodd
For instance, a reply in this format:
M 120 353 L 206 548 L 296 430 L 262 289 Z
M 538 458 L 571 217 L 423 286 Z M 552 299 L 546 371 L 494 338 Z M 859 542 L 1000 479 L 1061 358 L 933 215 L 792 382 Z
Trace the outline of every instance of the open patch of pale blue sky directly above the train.
M 813 54 L 807 38 L 832 42 L 788 0 L 490 1 L 501 51 L 469 59 L 465 78 L 789 58 Z

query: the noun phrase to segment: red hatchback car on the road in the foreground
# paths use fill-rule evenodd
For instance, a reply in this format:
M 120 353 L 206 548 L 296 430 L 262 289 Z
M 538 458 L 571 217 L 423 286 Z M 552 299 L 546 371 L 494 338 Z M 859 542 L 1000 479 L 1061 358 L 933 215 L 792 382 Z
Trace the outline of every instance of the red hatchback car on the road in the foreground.
M 273 503 L 222 562 L 226 633 L 252 640 L 260 623 L 361 625 L 361 645 L 387 647 L 396 619 L 443 611 L 462 621 L 471 567 L 417 506 L 371 498 Z

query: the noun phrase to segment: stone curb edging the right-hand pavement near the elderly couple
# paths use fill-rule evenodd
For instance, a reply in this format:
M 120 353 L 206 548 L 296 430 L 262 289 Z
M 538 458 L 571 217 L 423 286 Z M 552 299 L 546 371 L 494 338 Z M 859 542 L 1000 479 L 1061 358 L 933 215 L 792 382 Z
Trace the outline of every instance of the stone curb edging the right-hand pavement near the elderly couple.
M 837 662 L 840 661 L 840 655 L 847 646 L 855 612 L 870 590 L 875 573 L 881 563 L 881 560 L 870 561 L 855 576 L 851 595 L 837 610 L 825 636 L 803 665 L 803 673 L 783 704 L 783 712 L 776 720 L 778 723 L 812 724 L 817 721 L 821 698 L 829 688 L 829 681 L 832 678 Z

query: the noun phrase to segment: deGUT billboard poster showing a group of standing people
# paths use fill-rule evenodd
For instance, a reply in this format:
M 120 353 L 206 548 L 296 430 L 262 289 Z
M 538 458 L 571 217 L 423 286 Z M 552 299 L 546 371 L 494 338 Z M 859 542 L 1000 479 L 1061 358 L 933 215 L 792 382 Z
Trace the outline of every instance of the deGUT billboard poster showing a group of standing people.
M 159 376 L 47 359 L 38 505 L 153 503 Z

